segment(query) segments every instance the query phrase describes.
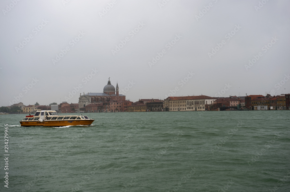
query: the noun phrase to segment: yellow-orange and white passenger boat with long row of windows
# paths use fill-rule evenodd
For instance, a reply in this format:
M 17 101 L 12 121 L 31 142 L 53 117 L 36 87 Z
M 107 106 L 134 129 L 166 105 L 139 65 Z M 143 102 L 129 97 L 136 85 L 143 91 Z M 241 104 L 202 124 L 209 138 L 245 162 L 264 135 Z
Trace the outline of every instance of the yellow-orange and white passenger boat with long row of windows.
M 63 127 L 68 125 L 91 125 L 95 119 L 83 115 L 59 115 L 56 111 L 37 111 L 35 115 L 28 115 L 20 122 L 21 127 L 49 126 Z

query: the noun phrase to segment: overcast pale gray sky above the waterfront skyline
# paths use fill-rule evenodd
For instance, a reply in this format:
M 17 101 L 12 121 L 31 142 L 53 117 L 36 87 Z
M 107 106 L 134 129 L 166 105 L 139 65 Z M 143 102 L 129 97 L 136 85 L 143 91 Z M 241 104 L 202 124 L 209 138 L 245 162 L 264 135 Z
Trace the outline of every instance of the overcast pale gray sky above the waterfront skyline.
M 290 93 L 290 1 L 0 1 L 0 106 Z M 249 62 L 251 61 L 251 63 Z M 123 89 L 123 91 L 122 91 Z

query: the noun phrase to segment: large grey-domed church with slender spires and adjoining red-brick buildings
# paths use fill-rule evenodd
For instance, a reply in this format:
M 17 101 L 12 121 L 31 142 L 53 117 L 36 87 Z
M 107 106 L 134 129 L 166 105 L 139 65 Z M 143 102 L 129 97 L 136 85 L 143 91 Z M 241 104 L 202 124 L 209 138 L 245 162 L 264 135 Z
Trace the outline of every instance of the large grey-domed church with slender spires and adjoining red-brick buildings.
M 131 103 L 133 102 L 126 100 L 125 95 L 119 94 L 118 83 L 115 89 L 110 78 L 102 93 L 87 93 L 79 96 L 79 110 L 86 112 L 123 112 L 127 111 Z

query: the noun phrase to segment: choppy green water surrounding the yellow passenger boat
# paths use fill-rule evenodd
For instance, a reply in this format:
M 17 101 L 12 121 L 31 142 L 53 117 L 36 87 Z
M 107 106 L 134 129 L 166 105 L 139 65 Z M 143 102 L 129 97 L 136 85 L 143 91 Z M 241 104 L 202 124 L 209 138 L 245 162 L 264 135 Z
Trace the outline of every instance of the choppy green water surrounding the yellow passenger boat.
M 0 191 L 290 191 L 290 111 L 86 115 L 57 128 L 0 115 Z

